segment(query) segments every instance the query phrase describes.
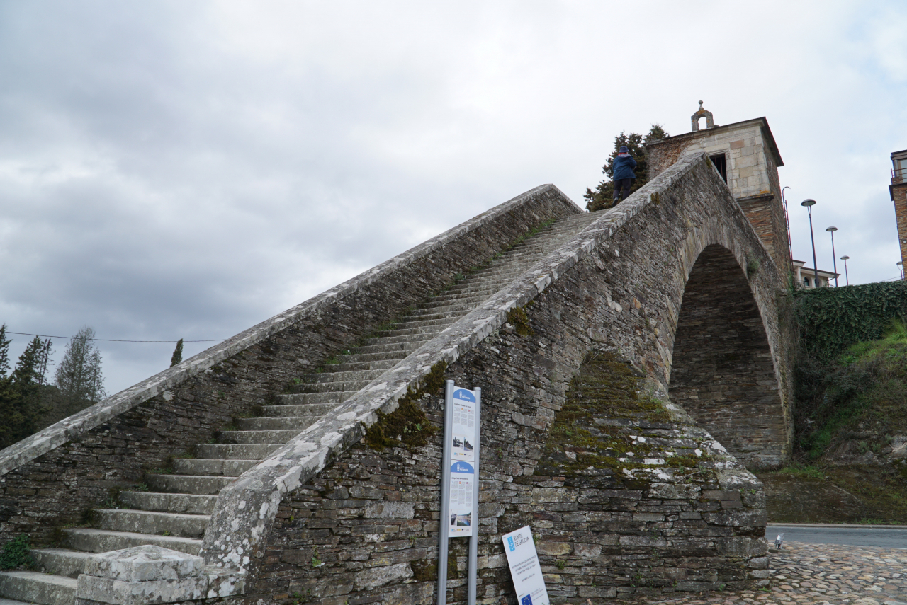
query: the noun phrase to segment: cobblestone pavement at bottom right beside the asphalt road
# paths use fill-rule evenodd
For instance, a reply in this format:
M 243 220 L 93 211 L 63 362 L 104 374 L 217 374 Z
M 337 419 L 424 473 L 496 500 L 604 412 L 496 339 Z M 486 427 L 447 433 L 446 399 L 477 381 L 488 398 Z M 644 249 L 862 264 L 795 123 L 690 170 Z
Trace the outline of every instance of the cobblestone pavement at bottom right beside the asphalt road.
M 907 549 L 785 542 L 769 590 L 648 600 L 678 605 L 907 605 Z

